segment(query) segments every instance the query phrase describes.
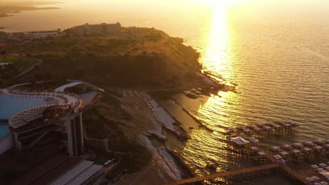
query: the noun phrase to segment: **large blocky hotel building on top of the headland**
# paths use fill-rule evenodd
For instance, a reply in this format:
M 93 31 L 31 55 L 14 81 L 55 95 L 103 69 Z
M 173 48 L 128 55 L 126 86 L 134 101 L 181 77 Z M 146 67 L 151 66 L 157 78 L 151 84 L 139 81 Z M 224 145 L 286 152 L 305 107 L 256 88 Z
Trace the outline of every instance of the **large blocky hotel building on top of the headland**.
M 101 25 L 89 25 L 88 23 L 86 23 L 86 25 L 80 25 L 74 27 L 73 29 L 75 29 L 75 33 L 79 36 L 107 35 L 120 32 L 121 25 L 120 22 L 117 22 L 115 24 L 102 23 Z

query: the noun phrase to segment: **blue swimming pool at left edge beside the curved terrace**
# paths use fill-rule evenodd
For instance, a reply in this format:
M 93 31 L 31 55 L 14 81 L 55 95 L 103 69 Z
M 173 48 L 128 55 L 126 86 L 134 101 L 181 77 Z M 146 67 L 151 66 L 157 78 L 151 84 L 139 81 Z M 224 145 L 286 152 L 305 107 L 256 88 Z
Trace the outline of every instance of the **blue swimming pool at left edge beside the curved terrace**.
M 10 119 L 14 114 L 45 104 L 46 102 L 43 97 L 0 95 L 0 119 Z M 0 123 L 0 139 L 4 138 L 8 134 L 8 123 Z

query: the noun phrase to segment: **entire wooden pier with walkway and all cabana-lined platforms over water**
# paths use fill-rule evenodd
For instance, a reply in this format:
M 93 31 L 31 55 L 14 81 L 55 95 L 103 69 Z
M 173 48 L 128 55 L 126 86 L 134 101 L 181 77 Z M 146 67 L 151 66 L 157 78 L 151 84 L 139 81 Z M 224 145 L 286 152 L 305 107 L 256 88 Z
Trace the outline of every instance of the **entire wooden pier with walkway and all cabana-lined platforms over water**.
M 269 151 L 257 146 L 259 141 L 252 137 L 252 135 L 266 136 L 271 134 L 283 135 L 285 133 L 293 133 L 297 130 L 299 125 L 292 121 L 287 122 L 273 122 L 273 123 L 257 123 L 256 125 L 238 126 L 238 128 L 227 128 L 224 132 L 226 139 L 231 139 L 228 142 L 228 151 L 236 157 L 243 157 L 247 160 L 257 161 L 264 165 L 256 167 L 247 167 L 239 170 L 228 172 L 218 172 L 214 174 L 207 174 L 200 177 L 193 177 L 190 179 L 182 179 L 179 181 L 169 182 L 169 185 L 174 184 L 195 184 L 197 182 L 218 184 L 230 183 L 235 179 L 245 179 L 250 177 L 257 177 L 257 174 L 268 174 L 271 169 L 276 169 L 290 177 L 299 184 L 309 184 L 309 178 L 317 177 L 318 172 L 314 169 L 294 170 L 290 167 L 290 163 L 299 163 L 302 160 L 313 158 L 314 156 L 326 156 L 329 152 L 328 139 L 316 139 L 315 141 L 300 141 L 293 144 L 283 144 L 282 146 L 269 146 Z M 246 139 L 240 139 L 241 142 L 233 142 L 232 138 L 241 137 L 245 135 Z M 239 140 L 238 140 L 239 141 Z M 247 141 L 247 142 L 244 142 Z M 283 156 L 283 157 L 281 157 Z M 288 162 L 288 163 L 287 163 Z M 329 163 L 329 162 L 328 162 Z M 326 181 L 324 177 L 318 177 L 321 181 Z

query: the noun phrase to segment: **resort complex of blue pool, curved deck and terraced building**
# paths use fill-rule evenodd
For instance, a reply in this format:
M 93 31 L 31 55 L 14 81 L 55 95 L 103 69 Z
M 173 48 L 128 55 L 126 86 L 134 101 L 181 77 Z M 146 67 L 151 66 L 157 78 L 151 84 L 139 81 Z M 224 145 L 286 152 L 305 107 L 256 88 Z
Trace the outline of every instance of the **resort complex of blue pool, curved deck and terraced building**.
M 14 109 L 9 111 L 6 111 L 5 104 L 0 106 L 0 154 L 13 147 L 24 151 L 53 143 L 58 149 L 66 149 L 69 156 L 81 156 L 84 153 L 82 111 L 97 93 L 90 92 L 79 97 L 63 91 L 83 83 L 72 81 L 52 93 L 12 88 L 1 90 L 1 102 L 15 103 L 12 104 Z M 103 90 L 89 83 L 86 86 Z

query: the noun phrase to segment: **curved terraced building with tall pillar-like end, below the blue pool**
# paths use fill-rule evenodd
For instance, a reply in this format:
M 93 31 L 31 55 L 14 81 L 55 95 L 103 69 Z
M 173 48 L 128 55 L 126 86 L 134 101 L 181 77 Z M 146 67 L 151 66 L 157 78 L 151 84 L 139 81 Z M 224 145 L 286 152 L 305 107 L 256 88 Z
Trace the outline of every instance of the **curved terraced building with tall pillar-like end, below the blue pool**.
M 70 156 L 84 153 L 82 113 L 70 104 L 46 105 L 15 114 L 8 121 L 16 149 L 61 142 Z

